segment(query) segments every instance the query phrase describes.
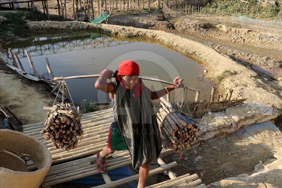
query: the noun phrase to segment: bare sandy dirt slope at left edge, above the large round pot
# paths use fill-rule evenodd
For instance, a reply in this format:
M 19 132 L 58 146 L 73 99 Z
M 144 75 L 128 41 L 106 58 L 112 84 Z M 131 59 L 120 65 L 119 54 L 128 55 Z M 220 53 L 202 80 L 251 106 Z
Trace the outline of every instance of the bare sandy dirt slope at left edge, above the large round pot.
M 44 84 L 30 81 L 0 63 L 0 101 L 7 105 L 24 123 L 39 123 L 47 111 L 43 106 L 53 105 L 54 99 Z

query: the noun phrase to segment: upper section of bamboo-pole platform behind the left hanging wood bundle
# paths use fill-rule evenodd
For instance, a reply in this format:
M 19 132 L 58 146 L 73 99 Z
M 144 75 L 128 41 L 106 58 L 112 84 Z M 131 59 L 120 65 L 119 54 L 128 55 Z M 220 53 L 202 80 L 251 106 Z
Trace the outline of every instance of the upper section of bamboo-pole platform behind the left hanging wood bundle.
M 112 120 L 113 108 L 84 114 L 84 117 L 81 119 L 82 128 L 84 130 L 83 137 L 76 151 L 70 150 L 67 152 L 62 149 L 56 149 L 56 147 L 52 145 L 52 140 L 46 141 L 44 136 L 40 134 L 41 130 L 44 128 L 44 123 L 24 125 L 23 133 L 45 144 L 52 154 L 52 164 L 54 165 L 102 151 L 102 147 L 107 145 L 106 140 L 108 140 Z M 31 160 L 27 161 L 27 166 L 29 170 L 36 169 L 36 165 Z

